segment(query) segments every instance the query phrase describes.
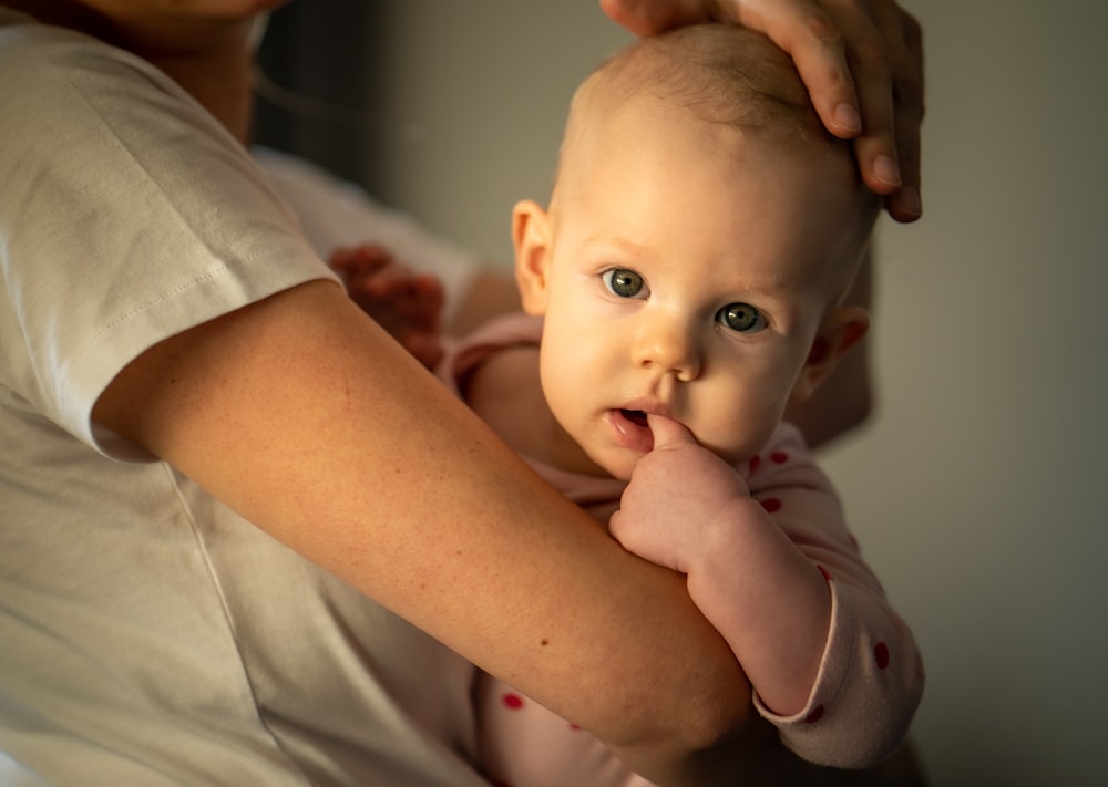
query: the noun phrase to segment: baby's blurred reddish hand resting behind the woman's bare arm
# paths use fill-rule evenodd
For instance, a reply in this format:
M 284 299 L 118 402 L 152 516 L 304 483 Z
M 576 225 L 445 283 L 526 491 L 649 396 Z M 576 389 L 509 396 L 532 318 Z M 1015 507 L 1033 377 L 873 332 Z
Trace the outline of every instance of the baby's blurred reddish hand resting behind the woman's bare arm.
M 442 360 L 442 284 L 376 244 L 337 249 L 328 260 L 347 293 L 427 367 Z

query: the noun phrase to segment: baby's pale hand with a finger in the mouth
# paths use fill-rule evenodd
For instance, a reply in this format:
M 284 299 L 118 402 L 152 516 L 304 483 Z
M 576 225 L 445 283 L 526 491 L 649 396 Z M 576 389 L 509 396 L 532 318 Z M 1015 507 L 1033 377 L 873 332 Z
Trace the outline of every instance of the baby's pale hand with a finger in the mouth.
M 735 468 L 696 442 L 685 426 L 647 416 L 654 451 L 635 465 L 608 529 L 624 549 L 687 573 L 705 548 L 706 528 L 737 497 L 749 497 Z

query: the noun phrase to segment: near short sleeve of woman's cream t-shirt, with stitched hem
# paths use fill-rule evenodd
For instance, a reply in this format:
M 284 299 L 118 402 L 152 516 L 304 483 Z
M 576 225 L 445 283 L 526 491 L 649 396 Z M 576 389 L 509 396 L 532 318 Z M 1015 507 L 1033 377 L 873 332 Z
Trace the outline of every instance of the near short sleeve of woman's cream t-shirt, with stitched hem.
M 0 94 L 3 385 L 90 445 L 90 421 L 155 343 L 334 278 L 243 146 L 147 63 L 37 25 Z

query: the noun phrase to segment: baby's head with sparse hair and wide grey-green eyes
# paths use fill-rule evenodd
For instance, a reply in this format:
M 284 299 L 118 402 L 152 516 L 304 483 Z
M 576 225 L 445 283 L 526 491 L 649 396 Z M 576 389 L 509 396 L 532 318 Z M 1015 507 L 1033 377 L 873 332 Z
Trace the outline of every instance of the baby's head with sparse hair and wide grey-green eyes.
M 841 300 L 879 209 L 763 37 L 689 27 L 620 50 L 574 96 L 550 209 L 514 218 L 560 423 L 624 477 L 649 443 L 634 411 L 756 453 L 864 333 Z

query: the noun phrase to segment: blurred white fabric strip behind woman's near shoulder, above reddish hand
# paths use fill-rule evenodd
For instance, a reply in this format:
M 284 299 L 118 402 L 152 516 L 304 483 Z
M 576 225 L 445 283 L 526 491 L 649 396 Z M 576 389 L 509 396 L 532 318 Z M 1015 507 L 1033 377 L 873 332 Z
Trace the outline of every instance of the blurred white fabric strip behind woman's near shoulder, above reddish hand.
M 327 259 L 339 247 L 379 244 L 404 265 L 439 278 L 447 297 L 442 318 L 450 323 L 479 270 L 474 255 L 431 236 L 407 214 L 304 159 L 260 146 L 253 153 L 293 207 L 317 255 Z

